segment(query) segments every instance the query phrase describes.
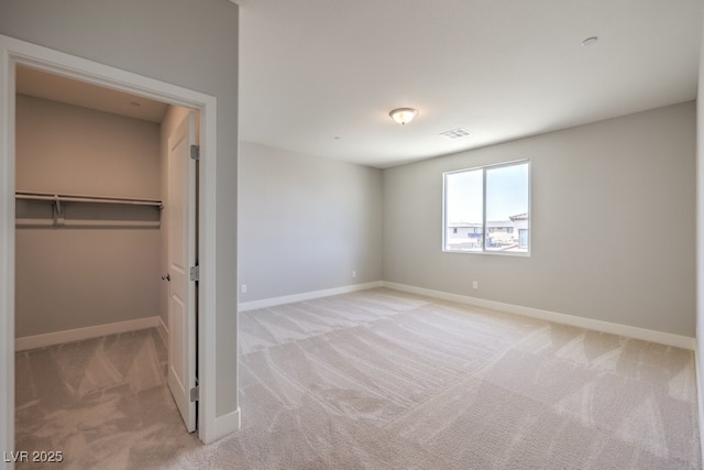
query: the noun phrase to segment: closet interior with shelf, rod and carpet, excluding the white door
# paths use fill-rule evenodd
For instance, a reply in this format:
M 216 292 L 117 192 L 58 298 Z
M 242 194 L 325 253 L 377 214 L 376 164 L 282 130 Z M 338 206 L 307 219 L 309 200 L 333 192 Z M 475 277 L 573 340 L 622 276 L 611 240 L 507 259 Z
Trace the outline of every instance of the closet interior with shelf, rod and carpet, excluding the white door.
M 46 446 L 47 438 L 57 448 L 72 439 L 89 446 L 86 436 L 111 438 L 114 423 L 125 419 L 132 429 L 158 420 L 184 430 L 166 385 L 164 278 L 168 139 L 188 113 L 18 67 L 19 448 Z M 62 417 L 81 409 L 88 416 L 98 405 L 132 414 L 106 414 L 95 426 L 80 417 L 68 426 Z M 147 418 L 153 409 L 158 418 Z M 56 431 L 47 436 L 46 428 Z

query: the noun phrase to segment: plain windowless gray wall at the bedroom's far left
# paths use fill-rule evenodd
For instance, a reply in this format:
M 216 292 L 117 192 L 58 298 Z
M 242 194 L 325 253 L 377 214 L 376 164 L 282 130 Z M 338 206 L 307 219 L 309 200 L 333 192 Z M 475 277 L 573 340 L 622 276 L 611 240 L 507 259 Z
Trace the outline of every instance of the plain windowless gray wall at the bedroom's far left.
M 240 302 L 381 280 L 380 170 L 242 142 L 240 172 Z

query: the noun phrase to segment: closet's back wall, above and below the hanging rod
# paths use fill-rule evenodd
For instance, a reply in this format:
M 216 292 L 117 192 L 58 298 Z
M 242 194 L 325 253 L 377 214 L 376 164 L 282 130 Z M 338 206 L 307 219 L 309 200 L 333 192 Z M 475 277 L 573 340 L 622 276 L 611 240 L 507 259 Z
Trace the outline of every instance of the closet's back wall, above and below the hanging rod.
M 20 95 L 16 188 L 158 199 L 158 132 L 153 122 Z M 76 208 L 65 205 L 68 220 L 84 217 Z M 18 229 L 15 242 L 18 337 L 157 315 L 157 229 Z

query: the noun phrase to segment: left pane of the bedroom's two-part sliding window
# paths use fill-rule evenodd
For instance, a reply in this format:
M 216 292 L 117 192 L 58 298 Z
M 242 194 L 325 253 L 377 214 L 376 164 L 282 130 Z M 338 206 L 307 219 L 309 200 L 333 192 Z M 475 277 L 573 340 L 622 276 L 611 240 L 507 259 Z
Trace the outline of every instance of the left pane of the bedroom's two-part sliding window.
M 447 174 L 444 190 L 444 249 L 482 251 L 483 171 Z

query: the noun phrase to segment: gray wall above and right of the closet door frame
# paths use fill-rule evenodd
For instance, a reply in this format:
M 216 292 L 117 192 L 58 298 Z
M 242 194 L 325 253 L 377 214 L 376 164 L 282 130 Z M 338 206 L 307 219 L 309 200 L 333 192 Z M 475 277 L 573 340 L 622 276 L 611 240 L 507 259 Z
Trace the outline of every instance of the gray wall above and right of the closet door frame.
M 216 414 L 234 412 L 238 6 L 228 0 L 2 0 L 0 34 L 217 98 Z

